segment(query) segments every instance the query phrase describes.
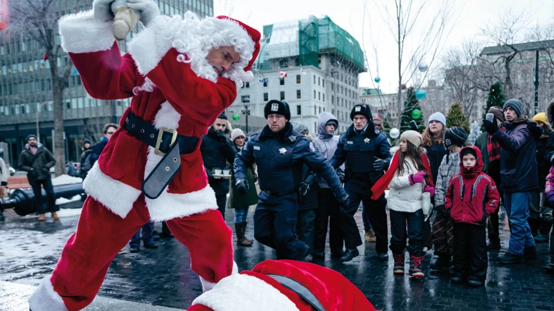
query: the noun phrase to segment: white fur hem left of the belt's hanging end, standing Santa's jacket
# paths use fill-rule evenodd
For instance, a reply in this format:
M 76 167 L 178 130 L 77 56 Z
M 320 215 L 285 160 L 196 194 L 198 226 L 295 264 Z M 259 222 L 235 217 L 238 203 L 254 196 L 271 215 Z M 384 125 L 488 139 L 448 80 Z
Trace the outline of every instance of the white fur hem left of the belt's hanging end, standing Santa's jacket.
M 125 218 L 129 214 L 134 201 L 141 195 L 141 190 L 134 189 L 102 173 L 98 161 L 94 163 L 87 178 L 84 178 L 82 187 L 89 196 L 121 218 Z

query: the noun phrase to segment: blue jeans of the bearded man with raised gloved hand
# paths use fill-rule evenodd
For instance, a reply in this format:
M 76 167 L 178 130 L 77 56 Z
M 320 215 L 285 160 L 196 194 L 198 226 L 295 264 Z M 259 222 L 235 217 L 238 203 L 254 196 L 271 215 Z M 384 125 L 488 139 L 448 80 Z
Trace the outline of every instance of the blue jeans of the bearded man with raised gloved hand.
M 508 252 L 519 256 L 523 256 L 525 247 L 535 246 L 535 240 L 527 222 L 530 200 L 530 192 L 504 191 L 504 208 L 512 224 Z

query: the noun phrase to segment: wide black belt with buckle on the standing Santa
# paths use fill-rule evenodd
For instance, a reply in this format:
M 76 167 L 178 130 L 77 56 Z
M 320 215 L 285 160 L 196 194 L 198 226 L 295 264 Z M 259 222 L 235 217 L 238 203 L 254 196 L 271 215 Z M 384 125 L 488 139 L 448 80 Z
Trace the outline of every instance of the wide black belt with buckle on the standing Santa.
M 163 157 L 142 185 L 143 194 L 147 198 L 158 198 L 181 167 L 179 155 L 193 153 L 198 138 L 179 135 L 174 129 L 165 127 L 156 129 L 152 123 L 134 113 L 129 113 L 125 120 L 125 129 L 134 138 L 154 147 L 154 153 Z

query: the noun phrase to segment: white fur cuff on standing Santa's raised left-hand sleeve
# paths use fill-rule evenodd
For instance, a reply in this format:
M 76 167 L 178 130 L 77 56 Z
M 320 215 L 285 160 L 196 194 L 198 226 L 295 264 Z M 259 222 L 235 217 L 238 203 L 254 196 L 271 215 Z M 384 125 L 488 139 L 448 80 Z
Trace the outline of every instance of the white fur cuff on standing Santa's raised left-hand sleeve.
M 93 19 L 92 10 L 65 15 L 59 23 L 62 48 L 66 53 L 90 53 L 109 50 L 116 38 L 111 21 Z

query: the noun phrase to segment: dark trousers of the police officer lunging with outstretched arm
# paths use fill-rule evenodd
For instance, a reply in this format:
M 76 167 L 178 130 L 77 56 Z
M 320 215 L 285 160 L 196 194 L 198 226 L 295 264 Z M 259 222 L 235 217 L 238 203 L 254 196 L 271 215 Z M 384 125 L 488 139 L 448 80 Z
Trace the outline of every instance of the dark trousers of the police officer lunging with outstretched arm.
M 303 259 L 305 243 L 296 238 L 298 194 L 271 196 L 265 191 L 258 194 L 254 212 L 254 238 L 277 250 L 277 259 Z

